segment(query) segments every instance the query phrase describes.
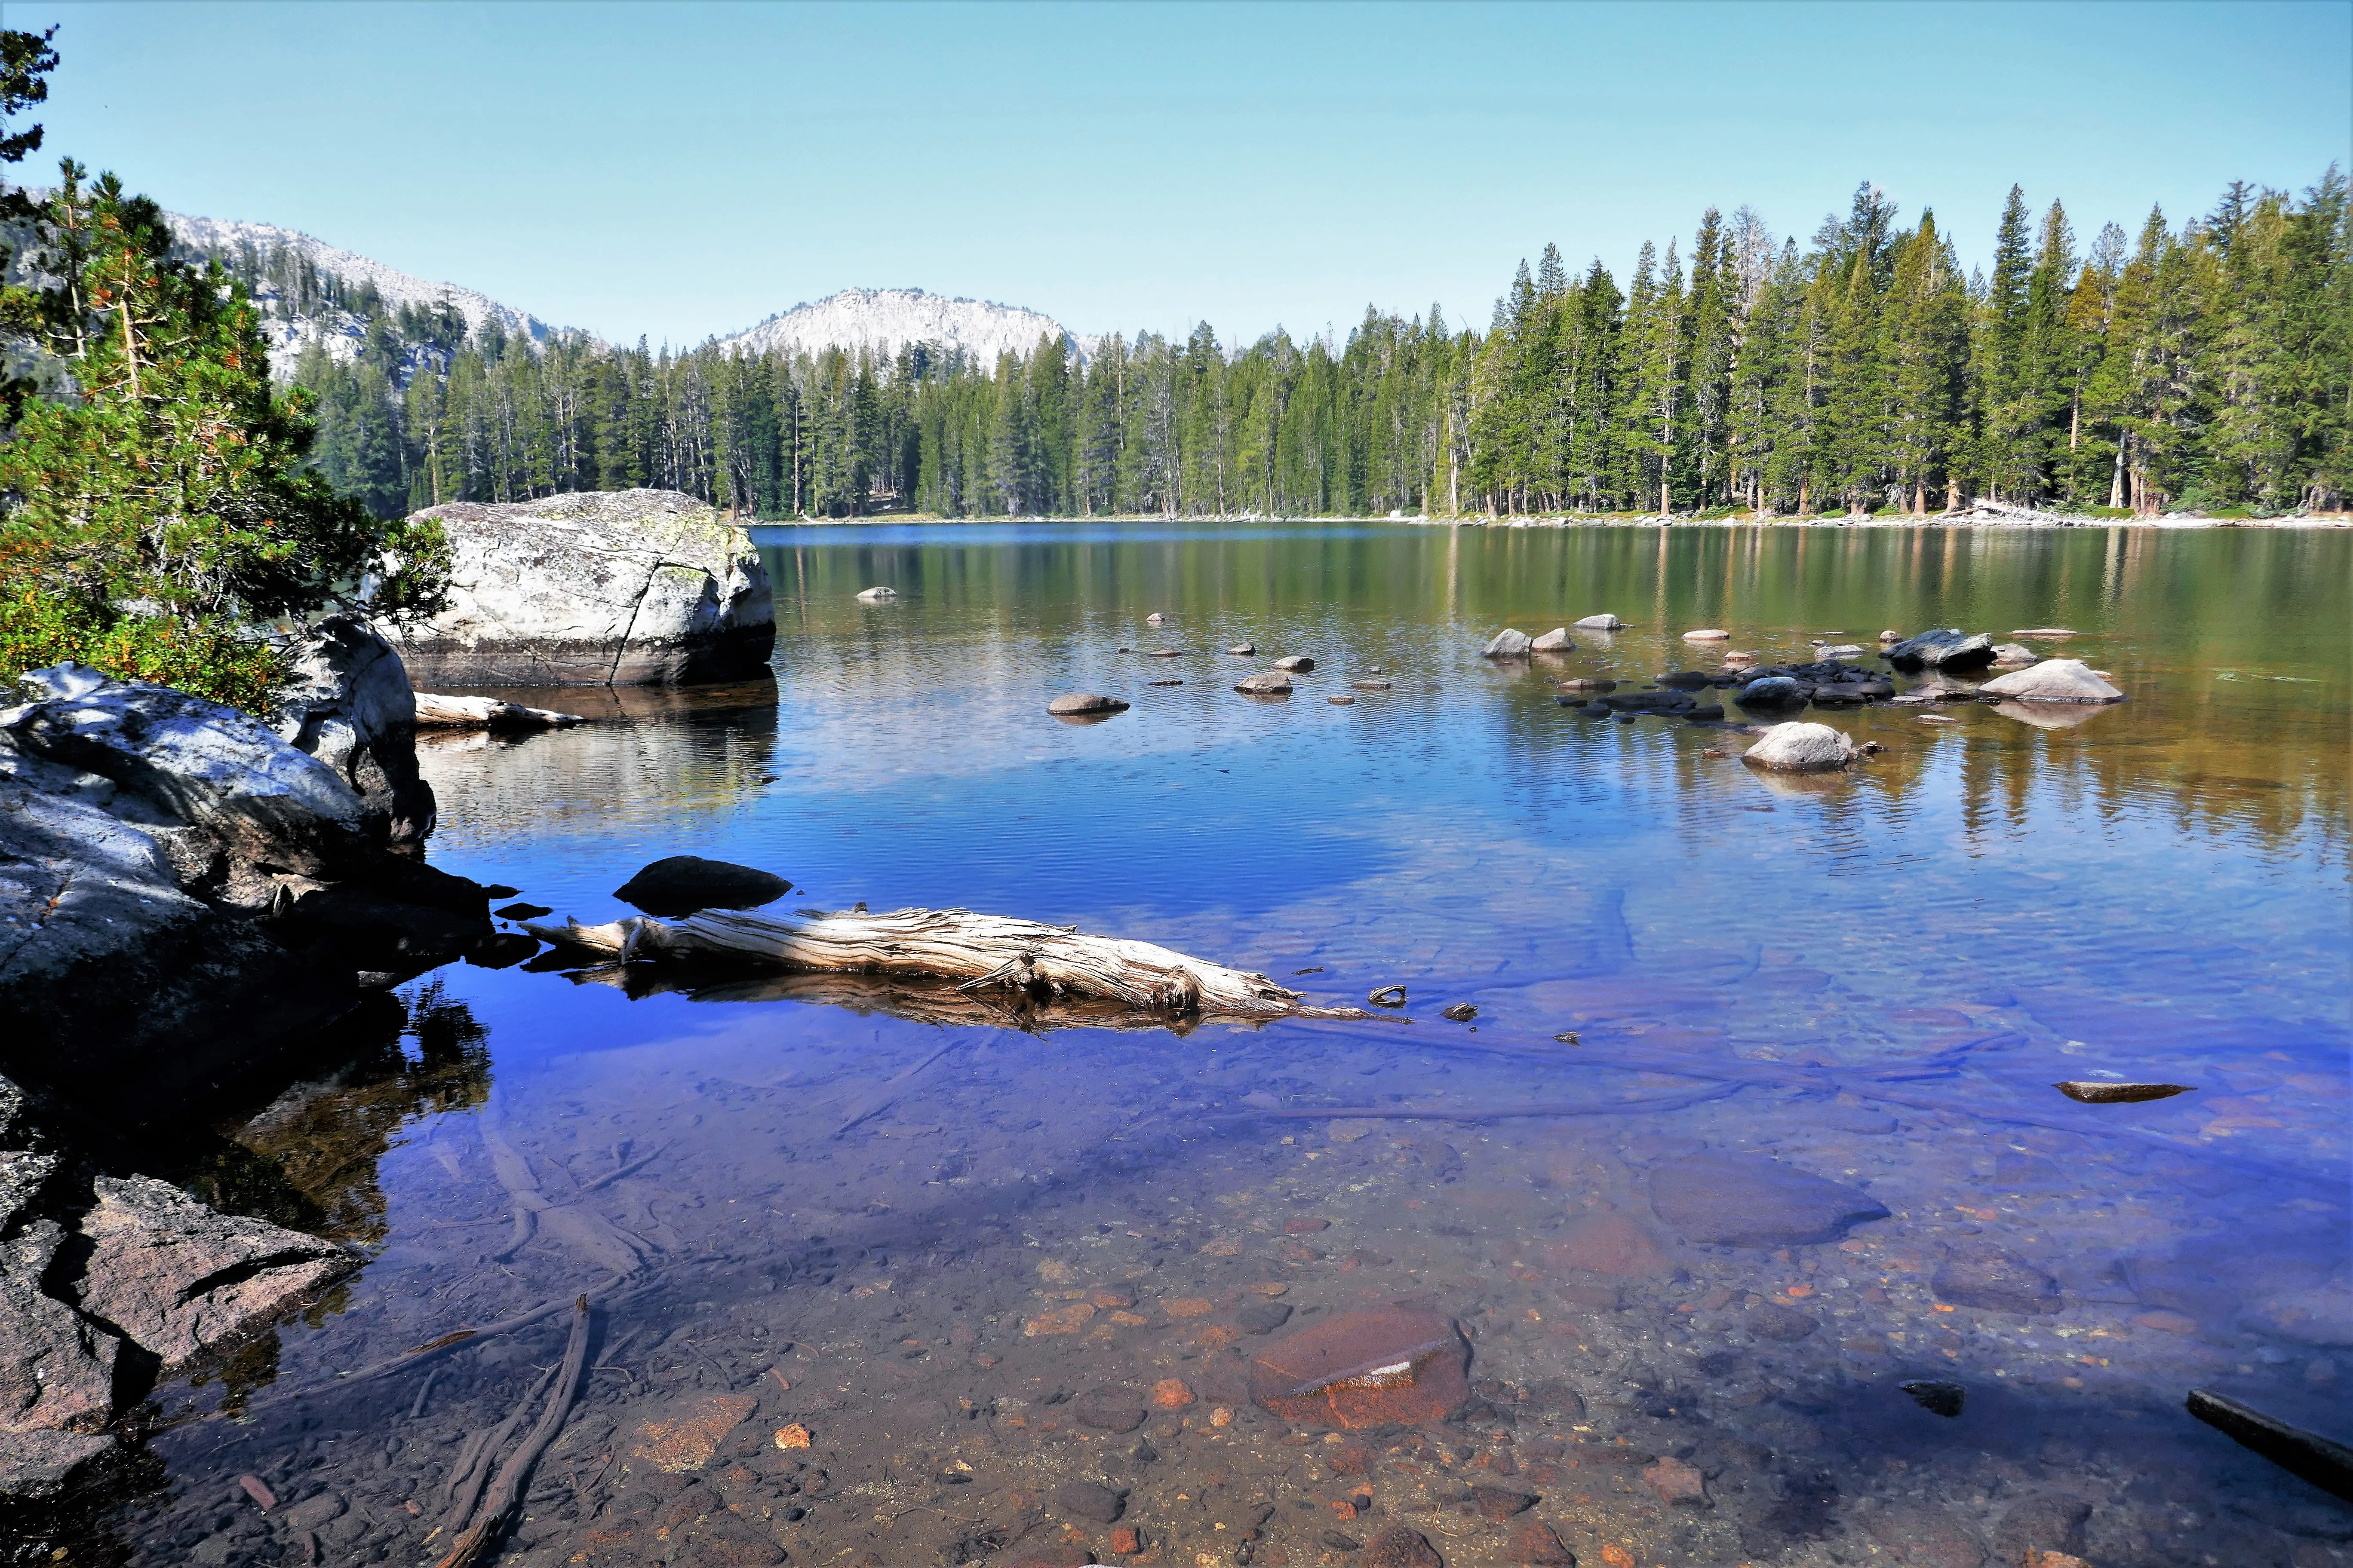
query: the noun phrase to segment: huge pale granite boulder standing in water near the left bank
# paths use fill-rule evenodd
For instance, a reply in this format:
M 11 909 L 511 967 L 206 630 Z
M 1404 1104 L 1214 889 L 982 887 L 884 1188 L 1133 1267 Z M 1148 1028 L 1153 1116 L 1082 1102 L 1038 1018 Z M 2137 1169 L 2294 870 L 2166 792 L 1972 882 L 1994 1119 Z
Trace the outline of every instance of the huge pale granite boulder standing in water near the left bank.
M 671 489 L 419 512 L 452 548 L 449 607 L 398 632 L 424 686 L 649 686 L 767 663 L 776 611 L 744 529 Z

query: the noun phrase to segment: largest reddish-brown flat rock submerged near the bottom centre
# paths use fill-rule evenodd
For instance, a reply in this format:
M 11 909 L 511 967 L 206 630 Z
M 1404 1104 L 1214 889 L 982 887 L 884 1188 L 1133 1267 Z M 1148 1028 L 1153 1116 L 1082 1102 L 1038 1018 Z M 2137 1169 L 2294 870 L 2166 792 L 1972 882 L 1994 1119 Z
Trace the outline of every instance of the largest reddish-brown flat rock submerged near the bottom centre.
M 1249 1361 L 1249 1399 L 1292 1422 L 1386 1427 L 1445 1420 L 1471 1399 L 1471 1347 L 1452 1319 L 1344 1312 Z

